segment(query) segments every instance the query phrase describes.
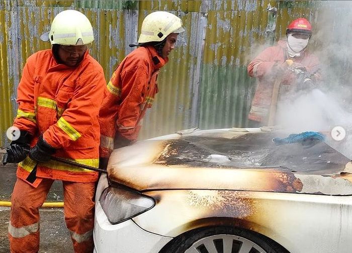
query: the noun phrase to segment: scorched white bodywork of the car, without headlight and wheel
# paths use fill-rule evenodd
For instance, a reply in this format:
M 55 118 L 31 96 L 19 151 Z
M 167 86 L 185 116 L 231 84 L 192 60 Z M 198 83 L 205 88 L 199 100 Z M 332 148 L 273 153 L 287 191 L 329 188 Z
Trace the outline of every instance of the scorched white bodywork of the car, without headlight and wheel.
M 230 145 L 244 136 L 250 139 L 251 134 L 260 139 L 268 133 L 259 128 L 193 129 L 114 150 L 108 165 L 110 184 L 149 196 L 155 205 L 111 224 L 100 202 L 109 187 L 108 177 L 102 175 L 96 194 L 95 252 L 157 253 L 183 233 L 224 224 L 266 236 L 290 253 L 351 252 L 351 163 L 338 152 L 325 157 L 335 161 L 327 161 L 322 170 L 301 170 L 307 165 L 307 157 L 302 157 L 303 165 L 291 171 L 285 166 L 232 166 L 236 157 L 226 160 L 230 155 L 216 154 L 215 149 L 222 148 L 216 145 L 211 146 L 215 150 L 211 155 L 203 157 L 200 152 L 203 163 L 192 159 L 187 163 L 183 159 L 187 160 L 188 144 L 178 151 L 173 148 L 184 140 L 193 145 L 191 140 L 197 138 L 204 143 L 220 138 Z M 175 164 L 178 159 L 181 163 Z

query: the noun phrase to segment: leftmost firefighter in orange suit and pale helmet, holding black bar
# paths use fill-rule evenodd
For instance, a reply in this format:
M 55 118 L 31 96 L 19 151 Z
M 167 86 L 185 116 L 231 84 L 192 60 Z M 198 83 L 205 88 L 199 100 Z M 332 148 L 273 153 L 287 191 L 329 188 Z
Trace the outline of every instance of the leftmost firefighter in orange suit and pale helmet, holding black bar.
M 39 251 L 38 209 L 54 180 L 61 180 L 74 252 L 92 252 L 98 173 L 50 158 L 99 166 L 98 114 L 106 80 L 102 66 L 88 53 L 93 28 L 82 13 L 60 12 L 43 37 L 52 48 L 27 59 L 14 122 L 21 135 L 3 158 L 3 163 L 19 162 L 11 198 L 10 251 Z

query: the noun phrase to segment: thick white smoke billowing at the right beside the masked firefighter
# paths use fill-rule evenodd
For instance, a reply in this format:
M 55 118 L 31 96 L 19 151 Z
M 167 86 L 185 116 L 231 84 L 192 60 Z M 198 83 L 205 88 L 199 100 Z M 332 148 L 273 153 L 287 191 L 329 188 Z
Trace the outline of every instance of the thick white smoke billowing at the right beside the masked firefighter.
M 310 50 L 321 63 L 318 89 L 281 99 L 277 124 L 291 132 L 320 131 L 326 143 L 352 159 L 352 3 L 327 1 L 313 15 Z M 346 137 L 334 141 L 330 132 L 342 126 Z

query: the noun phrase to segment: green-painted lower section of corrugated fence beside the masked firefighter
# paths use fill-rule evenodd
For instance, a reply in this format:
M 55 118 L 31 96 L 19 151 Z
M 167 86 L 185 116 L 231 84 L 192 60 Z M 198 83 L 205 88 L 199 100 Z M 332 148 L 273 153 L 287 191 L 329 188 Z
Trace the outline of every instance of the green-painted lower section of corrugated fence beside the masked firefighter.
M 255 88 L 246 66 L 204 64 L 202 69 L 199 127 L 245 126 Z

